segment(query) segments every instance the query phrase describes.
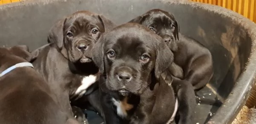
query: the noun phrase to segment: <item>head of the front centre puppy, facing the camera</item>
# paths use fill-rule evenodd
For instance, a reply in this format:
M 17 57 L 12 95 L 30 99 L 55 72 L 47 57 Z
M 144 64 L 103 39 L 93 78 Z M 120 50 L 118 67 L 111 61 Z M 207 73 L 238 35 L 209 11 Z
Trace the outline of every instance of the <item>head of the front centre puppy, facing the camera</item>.
M 106 87 L 120 93 L 141 94 L 152 76 L 159 78 L 173 62 L 161 37 L 136 23 L 103 34 L 93 48 L 93 61 L 106 75 Z M 155 74 L 155 75 L 154 75 Z

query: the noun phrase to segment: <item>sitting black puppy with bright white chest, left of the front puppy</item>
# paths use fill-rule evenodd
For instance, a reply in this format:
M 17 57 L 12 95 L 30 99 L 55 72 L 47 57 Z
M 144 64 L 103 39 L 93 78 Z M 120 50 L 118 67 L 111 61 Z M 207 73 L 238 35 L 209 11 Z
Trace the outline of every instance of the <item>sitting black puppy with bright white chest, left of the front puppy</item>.
M 60 108 L 69 116 L 70 99 L 98 88 L 100 72 L 92 62 L 92 47 L 114 25 L 102 15 L 78 11 L 52 26 L 49 44 L 35 50 L 39 51 L 33 62 L 35 69 L 50 83 Z

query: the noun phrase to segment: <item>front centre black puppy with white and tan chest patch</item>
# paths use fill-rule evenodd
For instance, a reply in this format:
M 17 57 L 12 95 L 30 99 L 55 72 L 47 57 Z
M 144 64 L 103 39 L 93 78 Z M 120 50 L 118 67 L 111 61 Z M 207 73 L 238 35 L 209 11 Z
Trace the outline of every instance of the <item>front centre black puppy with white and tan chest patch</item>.
M 167 124 L 178 106 L 185 112 L 178 112 L 182 118 L 178 123 L 192 124 L 193 107 L 187 105 L 196 104 L 195 96 L 189 96 L 193 87 L 190 84 L 190 90 L 175 95 L 171 82 L 161 77 L 173 62 L 172 51 L 161 40 L 147 27 L 127 23 L 96 42 L 92 59 L 103 72 L 99 89 L 105 124 Z

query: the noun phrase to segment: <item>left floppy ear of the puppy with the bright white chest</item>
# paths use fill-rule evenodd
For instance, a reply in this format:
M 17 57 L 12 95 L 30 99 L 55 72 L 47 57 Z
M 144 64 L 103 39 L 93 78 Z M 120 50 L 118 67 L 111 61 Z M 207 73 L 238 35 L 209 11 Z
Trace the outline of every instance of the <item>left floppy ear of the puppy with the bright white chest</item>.
M 59 49 L 62 49 L 64 42 L 63 28 L 66 23 L 66 18 L 64 20 L 58 20 L 58 22 L 53 25 L 48 34 L 48 43 L 55 43 Z

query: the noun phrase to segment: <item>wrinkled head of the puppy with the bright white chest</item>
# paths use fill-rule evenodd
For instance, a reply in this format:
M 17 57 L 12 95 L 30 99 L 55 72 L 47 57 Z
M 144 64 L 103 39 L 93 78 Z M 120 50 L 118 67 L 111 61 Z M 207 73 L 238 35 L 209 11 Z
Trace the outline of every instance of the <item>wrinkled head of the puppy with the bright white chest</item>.
M 48 42 L 54 42 L 71 62 L 91 62 L 93 45 L 113 25 L 102 15 L 78 11 L 52 26 Z

